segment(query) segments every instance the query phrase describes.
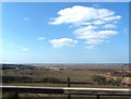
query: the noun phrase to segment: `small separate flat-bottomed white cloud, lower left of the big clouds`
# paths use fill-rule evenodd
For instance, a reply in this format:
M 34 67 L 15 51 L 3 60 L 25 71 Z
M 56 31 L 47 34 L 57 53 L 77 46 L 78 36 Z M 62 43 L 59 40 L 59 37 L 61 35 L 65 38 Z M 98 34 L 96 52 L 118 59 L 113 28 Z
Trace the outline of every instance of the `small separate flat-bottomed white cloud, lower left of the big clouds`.
M 49 40 L 52 44 L 52 47 L 60 48 L 60 47 L 74 47 L 78 40 L 73 40 L 70 38 L 60 38 L 60 39 L 52 39 Z

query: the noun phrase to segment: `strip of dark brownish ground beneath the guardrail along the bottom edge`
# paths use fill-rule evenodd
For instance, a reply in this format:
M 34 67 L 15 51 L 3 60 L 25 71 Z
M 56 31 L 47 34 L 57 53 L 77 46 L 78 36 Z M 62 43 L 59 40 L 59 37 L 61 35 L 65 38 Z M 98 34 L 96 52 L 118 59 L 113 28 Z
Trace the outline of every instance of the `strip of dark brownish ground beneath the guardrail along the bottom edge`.
M 14 94 L 3 94 L 1 99 L 15 99 Z M 68 95 L 19 94 L 17 99 L 69 99 Z M 74 96 L 70 99 L 97 99 L 96 96 Z M 100 99 L 131 99 L 128 96 L 100 96 Z

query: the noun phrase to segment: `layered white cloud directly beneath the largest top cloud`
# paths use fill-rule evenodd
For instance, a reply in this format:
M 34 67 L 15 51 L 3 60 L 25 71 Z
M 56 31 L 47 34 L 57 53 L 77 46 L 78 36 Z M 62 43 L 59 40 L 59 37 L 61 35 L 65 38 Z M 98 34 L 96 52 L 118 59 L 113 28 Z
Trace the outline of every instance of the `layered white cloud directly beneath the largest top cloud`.
M 87 45 L 99 45 L 106 42 L 109 36 L 118 34 L 117 30 L 95 30 L 95 27 L 87 26 L 74 30 L 78 39 L 85 39 Z

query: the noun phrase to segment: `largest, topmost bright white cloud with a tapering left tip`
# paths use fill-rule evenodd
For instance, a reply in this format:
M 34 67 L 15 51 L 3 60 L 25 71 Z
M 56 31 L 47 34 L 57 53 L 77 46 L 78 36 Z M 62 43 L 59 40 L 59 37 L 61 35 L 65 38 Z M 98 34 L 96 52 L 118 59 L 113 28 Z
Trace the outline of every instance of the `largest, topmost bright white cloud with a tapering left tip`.
M 114 11 L 107 9 L 96 9 L 90 7 L 74 5 L 72 8 L 66 8 L 58 12 L 58 17 L 53 18 L 50 24 L 82 24 L 83 22 L 99 22 L 119 20 L 120 15 L 115 15 Z M 104 22 L 103 22 L 104 23 Z

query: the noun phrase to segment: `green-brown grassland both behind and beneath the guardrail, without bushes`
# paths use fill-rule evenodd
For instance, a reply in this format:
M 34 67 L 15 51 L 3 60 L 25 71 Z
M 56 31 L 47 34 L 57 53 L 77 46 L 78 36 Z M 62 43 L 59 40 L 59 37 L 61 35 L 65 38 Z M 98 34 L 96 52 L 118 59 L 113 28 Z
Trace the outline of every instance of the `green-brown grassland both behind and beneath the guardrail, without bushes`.
M 52 67 L 52 69 L 51 69 Z M 62 69 L 59 69 L 62 67 Z M 67 78 L 70 82 L 92 83 L 94 75 L 103 75 L 106 73 L 119 71 L 120 66 L 114 67 L 96 67 L 96 66 L 28 66 L 28 65 L 8 65 L 2 70 L 2 85 L 8 86 L 39 86 L 39 87 L 67 87 Z M 121 77 L 121 76 L 118 76 Z M 71 84 L 71 87 L 87 88 L 123 88 L 127 86 L 117 86 L 111 84 Z M 11 99 L 11 94 L 3 94 L 2 99 Z M 45 95 L 45 94 L 20 94 L 19 99 L 67 99 L 67 96 Z M 95 97 L 75 97 L 71 99 L 96 99 Z M 102 97 L 100 99 L 110 99 Z M 130 99 L 129 97 L 111 97 L 111 99 Z

